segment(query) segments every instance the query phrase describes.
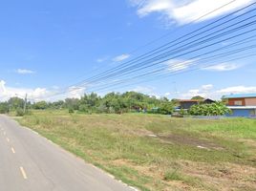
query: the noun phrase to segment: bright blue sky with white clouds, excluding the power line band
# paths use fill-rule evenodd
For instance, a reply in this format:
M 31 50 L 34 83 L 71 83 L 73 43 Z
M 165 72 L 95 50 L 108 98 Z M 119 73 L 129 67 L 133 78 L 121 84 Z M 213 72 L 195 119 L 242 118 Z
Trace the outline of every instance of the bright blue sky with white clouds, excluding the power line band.
M 76 88 L 74 84 L 118 67 L 141 53 L 147 53 L 253 2 L 237 0 L 220 11 L 198 19 L 230 1 L 2 2 L 0 101 L 11 96 L 25 97 L 26 94 L 30 100 L 37 101 L 78 97 L 84 92 L 93 92 L 96 84 L 84 88 Z M 254 28 L 255 26 L 250 27 Z M 222 46 L 231 43 L 232 40 L 224 41 Z M 171 59 L 164 62 L 165 72 L 180 72 L 189 69 L 196 62 L 199 61 L 189 57 Z M 173 63 L 178 64 L 173 67 Z M 101 85 L 109 83 L 109 86 L 105 90 L 99 90 L 98 94 L 103 96 L 113 91 L 138 91 L 150 96 L 169 98 L 204 96 L 219 99 L 229 94 L 256 93 L 255 56 L 232 61 L 216 59 L 214 64 L 165 78 L 153 76 L 152 80 L 146 78 L 143 81 L 140 77 L 138 80 L 131 80 L 131 84 L 113 87 L 111 83 L 115 80 L 125 80 L 126 83 L 130 81 L 120 75 L 113 81 L 100 81 Z M 66 90 L 65 87 L 73 91 L 51 96 Z

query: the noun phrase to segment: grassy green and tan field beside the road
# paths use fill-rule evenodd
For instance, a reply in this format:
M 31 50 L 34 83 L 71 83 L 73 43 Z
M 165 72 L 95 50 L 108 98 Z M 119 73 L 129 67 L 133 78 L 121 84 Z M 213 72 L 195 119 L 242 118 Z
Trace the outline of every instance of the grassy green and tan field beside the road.
M 18 121 L 140 190 L 256 190 L 256 120 L 33 112 Z

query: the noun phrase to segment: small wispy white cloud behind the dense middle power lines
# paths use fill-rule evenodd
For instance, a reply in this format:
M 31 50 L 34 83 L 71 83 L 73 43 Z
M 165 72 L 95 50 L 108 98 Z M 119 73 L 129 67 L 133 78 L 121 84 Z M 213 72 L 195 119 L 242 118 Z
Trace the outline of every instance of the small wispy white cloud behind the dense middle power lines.
M 165 62 L 169 72 L 178 72 L 189 68 L 195 60 L 169 60 Z

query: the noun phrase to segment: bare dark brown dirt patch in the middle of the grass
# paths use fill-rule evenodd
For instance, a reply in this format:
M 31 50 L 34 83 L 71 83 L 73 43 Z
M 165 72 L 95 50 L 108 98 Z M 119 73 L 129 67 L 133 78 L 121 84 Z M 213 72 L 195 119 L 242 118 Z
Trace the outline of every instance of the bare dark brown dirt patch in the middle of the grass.
M 184 136 L 184 135 L 171 134 L 168 136 L 160 136 L 159 138 L 165 142 L 170 142 L 175 144 L 185 144 L 185 145 L 195 146 L 201 149 L 215 149 L 215 150 L 224 149 L 220 145 L 214 142 L 211 142 L 209 140 L 193 138 L 193 137 Z

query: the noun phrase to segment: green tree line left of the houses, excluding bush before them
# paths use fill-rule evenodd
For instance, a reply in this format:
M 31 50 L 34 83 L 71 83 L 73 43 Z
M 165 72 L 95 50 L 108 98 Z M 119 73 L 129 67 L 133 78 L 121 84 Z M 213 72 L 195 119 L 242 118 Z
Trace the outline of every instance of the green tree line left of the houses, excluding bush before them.
M 0 113 L 7 114 L 15 111 L 22 116 L 25 100 L 19 97 L 11 97 L 8 101 L 0 103 Z M 124 94 L 110 93 L 105 96 L 98 96 L 96 93 L 85 94 L 80 98 L 66 98 L 65 100 L 47 102 L 28 102 L 26 111 L 46 109 L 68 109 L 70 113 L 75 111 L 93 114 L 122 114 L 130 112 L 155 113 L 171 115 L 174 111 L 173 100 L 166 97 L 147 96 L 136 92 Z M 23 114 L 24 115 L 24 114 Z

